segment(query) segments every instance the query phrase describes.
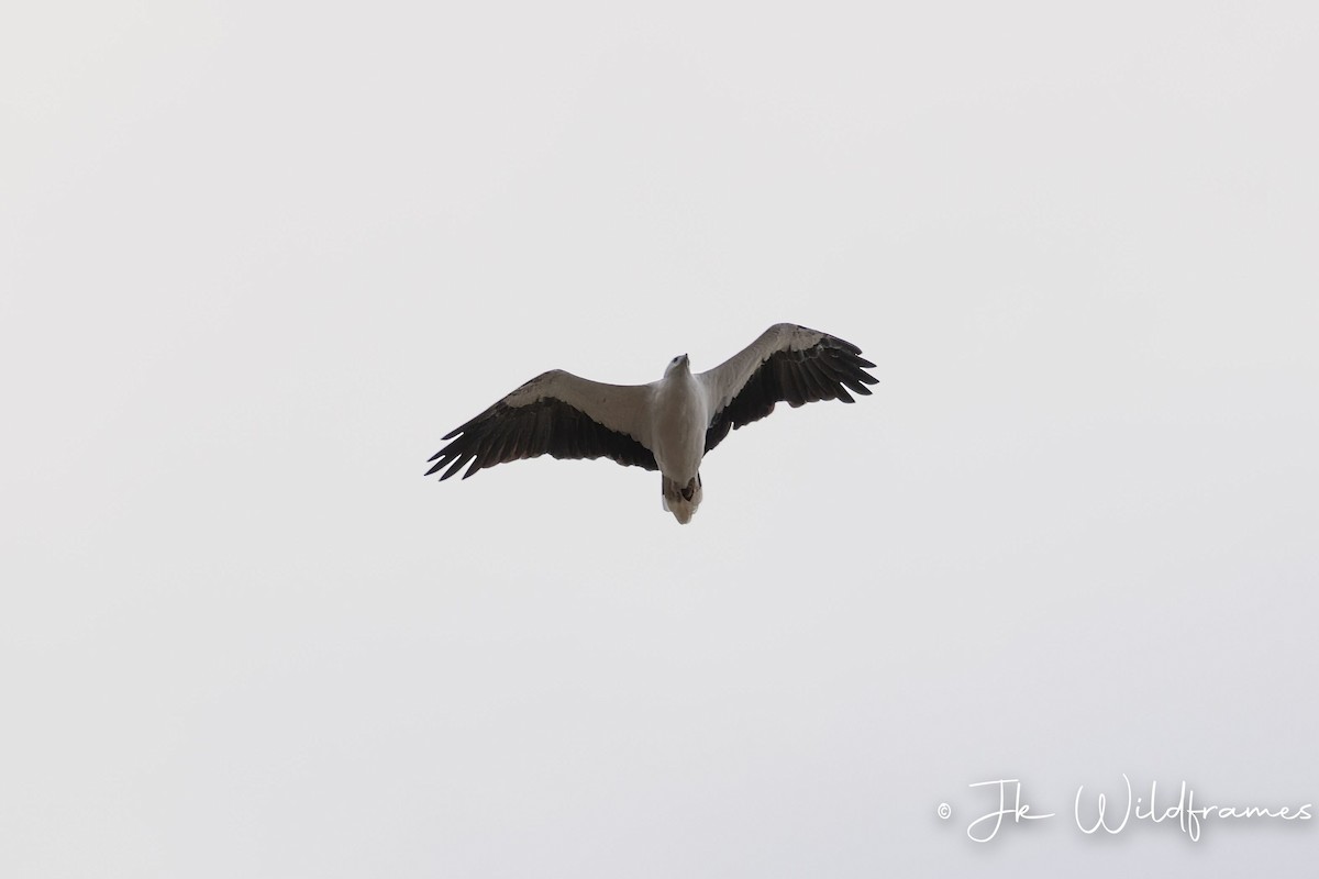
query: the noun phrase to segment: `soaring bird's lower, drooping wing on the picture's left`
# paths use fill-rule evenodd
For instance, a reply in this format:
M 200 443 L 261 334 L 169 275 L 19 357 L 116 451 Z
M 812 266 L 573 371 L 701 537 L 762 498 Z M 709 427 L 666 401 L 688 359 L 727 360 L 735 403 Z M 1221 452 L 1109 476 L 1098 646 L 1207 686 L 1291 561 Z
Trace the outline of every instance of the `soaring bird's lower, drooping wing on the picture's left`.
M 451 431 L 430 459 L 426 476 L 448 468 L 447 480 L 471 464 L 468 476 L 524 457 L 608 457 L 619 464 L 660 469 L 642 441 L 649 435 L 645 385 L 604 385 L 562 369 L 537 376 L 484 412 Z

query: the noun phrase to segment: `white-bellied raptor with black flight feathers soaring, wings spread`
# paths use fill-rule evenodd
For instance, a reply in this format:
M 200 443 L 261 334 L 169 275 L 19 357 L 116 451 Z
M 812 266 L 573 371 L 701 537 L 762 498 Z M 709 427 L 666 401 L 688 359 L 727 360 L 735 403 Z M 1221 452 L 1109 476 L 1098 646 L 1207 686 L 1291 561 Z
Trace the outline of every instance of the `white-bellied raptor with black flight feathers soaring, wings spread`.
M 551 369 L 508 394 L 443 439 L 426 476 L 447 480 L 549 453 L 608 457 L 660 470 L 663 509 L 682 525 L 700 506 L 700 460 L 729 430 L 765 418 L 774 405 L 855 402 L 878 380 L 861 349 L 797 324 L 774 324 L 740 353 L 703 373 L 687 354 L 669 361 L 649 385 L 604 385 Z M 447 468 L 447 469 L 446 469 Z

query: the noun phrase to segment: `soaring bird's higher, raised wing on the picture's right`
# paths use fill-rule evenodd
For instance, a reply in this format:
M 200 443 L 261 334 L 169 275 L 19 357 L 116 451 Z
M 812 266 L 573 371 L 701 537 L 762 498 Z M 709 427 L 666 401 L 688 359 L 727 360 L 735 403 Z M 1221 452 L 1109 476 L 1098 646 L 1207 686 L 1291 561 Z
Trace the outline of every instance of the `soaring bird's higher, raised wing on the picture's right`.
M 710 372 L 700 373 L 710 395 L 711 420 L 706 451 L 728 431 L 757 422 L 785 402 L 797 407 L 820 399 L 855 402 L 848 389 L 869 394 L 878 380 L 865 372 L 874 364 L 861 349 L 818 329 L 774 324 L 760 339 Z

